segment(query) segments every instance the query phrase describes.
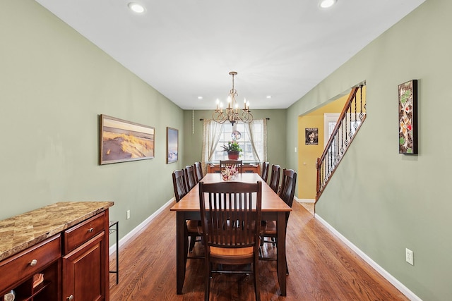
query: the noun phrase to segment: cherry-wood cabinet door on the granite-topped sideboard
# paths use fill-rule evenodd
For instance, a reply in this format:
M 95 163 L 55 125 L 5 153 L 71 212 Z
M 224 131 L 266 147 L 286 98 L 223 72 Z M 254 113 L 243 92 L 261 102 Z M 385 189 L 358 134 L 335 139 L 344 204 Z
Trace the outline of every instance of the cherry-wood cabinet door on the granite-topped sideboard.
M 63 300 L 105 300 L 105 232 L 63 257 L 63 278 Z

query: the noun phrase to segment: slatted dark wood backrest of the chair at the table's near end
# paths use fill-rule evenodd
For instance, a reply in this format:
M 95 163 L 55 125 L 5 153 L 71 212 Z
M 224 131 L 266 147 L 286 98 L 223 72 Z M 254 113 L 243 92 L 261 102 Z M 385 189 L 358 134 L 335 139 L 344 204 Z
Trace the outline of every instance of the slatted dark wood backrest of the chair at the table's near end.
M 262 181 L 199 182 L 199 207 L 208 247 L 251 247 L 258 252 Z

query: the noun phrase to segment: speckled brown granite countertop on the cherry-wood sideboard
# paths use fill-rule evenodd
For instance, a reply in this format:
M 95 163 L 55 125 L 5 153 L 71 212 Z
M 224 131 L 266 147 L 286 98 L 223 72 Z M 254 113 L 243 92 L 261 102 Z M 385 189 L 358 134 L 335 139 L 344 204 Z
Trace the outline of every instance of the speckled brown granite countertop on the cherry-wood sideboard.
M 114 202 L 59 202 L 0 221 L 0 261 L 112 207 Z

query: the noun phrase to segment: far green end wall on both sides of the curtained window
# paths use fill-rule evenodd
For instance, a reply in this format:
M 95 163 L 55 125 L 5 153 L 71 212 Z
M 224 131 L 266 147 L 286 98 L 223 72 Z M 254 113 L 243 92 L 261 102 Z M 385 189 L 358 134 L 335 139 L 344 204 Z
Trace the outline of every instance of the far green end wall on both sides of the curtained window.
M 215 103 L 212 102 L 212 107 Z M 286 109 L 252 110 L 255 119 L 270 118 L 267 121 L 267 161 L 279 164 L 281 168 L 295 169 L 297 166 L 288 166 L 286 157 Z M 201 161 L 203 143 L 203 122 L 200 119 L 212 119 L 213 110 L 184 111 L 184 164 L 193 164 Z M 193 126 L 194 125 L 194 126 Z M 193 133 L 194 129 L 194 133 Z

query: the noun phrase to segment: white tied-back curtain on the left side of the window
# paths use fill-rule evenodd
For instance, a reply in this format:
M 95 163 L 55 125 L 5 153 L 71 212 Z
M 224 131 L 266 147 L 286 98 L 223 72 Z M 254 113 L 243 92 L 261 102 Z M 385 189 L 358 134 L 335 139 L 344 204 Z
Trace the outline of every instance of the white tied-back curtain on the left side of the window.
M 223 133 L 223 125 L 213 121 L 213 119 L 204 119 L 203 121 L 203 151 L 202 161 L 204 174 L 207 173 L 206 162 L 210 162 Z

